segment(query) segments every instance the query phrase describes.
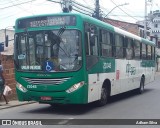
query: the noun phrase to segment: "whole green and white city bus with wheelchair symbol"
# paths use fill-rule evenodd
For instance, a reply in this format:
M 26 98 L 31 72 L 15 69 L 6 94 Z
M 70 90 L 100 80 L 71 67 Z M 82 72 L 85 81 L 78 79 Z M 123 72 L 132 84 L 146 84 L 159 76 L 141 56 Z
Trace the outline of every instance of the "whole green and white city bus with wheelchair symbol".
M 19 101 L 105 105 L 155 77 L 155 43 L 92 17 L 19 18 L 14 43 Z

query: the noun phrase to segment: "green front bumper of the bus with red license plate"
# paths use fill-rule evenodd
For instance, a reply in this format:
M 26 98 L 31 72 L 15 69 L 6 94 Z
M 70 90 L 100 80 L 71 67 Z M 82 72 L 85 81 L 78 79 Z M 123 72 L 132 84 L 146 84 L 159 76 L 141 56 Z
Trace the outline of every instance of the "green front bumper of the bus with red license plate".
M 19 101 L 37 101 L 47 104 L 86 104 L 87 95 L 84 92 L 84 87 L 72 93 L 63 92 L 22 92 L 16 87 Z

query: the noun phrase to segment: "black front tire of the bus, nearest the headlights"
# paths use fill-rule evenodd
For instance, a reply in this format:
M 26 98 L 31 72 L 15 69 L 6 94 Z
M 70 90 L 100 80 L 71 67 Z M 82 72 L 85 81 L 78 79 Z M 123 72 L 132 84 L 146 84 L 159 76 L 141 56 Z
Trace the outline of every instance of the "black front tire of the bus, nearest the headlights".
M 108 102 L 108 89 L 107 87 L 103 86 L 101 89 L 101 98 L 97 101 L 98 106 L 104 106 Z

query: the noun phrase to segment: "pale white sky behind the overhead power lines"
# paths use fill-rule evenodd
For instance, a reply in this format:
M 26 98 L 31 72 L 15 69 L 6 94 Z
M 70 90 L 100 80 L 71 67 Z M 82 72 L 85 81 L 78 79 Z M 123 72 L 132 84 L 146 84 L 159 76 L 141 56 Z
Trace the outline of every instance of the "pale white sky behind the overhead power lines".
M 52 0 L 61 1 L 61 0 Z M 95 8 L 96 0 L 74 0 L 87 7 Z M 160 10 L 159 0 L 99 0 L 102 16 L 136 23 L 144 19 L 145 1 L 147 13 Z M 150 1 L 150 2 L 149 2 Z M 127 5 L 124 5 L 127 3 Z M 123 6 L 122 6 L 123 5 Z M 113 9 L 113 10 L 112 10 Z M 112 11 L 111 11 L 112 10 Z M 0 0 L 0 29 L 12 28 L 15 20 L 20 17 L 52 14 L 62 12 L 59 3 L 47 0 Z M 76 11 L 73 11 L 76 12 Z

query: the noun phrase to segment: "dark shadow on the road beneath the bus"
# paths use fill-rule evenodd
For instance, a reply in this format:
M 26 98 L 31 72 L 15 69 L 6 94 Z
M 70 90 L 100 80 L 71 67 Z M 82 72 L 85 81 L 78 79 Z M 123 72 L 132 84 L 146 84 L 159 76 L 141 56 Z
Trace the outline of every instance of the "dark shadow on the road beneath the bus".
M 138 97 L 140 95 L 145 95 L 146 93 L 149 93 L 152 90 L 153 89 L 145 89 L 143 94 L 137 94 L 137 92 L 133 90 L 133 91 L 112 96 L 110 97 L 108 104 L 103 107 L 98 107 L 95 102 L 86 104 L 86 105 L 58 105 L 58 106 L 47 105 L 42 108 L 25 111 L 24 113 L 32 113 L 32 114 L 41 113 L 41 114 L 55 114 L 55 115 L 83 115 L 91 111 L 94 111 L 95 109 L 101 109 L 104 107 L 107 108 L 107 106 L 110 106 L 116 102 L 128 100 L 130 98 Z

